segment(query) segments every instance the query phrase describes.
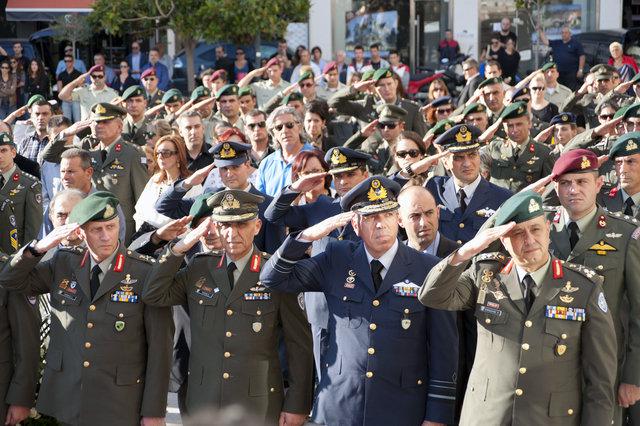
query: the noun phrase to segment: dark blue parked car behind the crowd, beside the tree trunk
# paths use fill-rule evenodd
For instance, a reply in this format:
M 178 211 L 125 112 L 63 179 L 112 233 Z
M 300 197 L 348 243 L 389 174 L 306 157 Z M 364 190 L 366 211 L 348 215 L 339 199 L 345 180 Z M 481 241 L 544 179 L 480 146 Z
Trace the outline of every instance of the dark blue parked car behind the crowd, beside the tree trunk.
M 200 73 L 207 68 L 214 68 L 216 63 L 215 48 L 217 46 L 224 46 L 227 57 L 231 60 L 236 58 L 236 47 L 241 47 L 247 60 L 251 63 L 255 61 L 256 51 L 253 45 L 251 46 L 236 46 L 232 43 L 205 43 L 199 42 L 196 45 L 194 53 L 195 62 L 195 78 L 197 79 Z M 269 58 L 278 50 L 277 42 L 266 42 L 260 45 L 260 57 Z M 183 93 L 187 93 L 187 54 L 183 50 L 176 54 L 173 60 L 173 85 Z

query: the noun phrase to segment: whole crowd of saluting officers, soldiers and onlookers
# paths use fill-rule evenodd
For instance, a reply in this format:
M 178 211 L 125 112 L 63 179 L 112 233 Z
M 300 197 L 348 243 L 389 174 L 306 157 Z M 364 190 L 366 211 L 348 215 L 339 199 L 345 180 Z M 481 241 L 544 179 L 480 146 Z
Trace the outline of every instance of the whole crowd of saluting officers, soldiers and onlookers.
M 59 102 L 32 61 L 0 121 L 0 418 L 162 425 L 171 391 L 204 424 L 639 423 L 640 75 L 541 39 L 426 105 L 376 44 L 218 48 L 187 96 L 137 43 L 118 73 L 68 52 Z

